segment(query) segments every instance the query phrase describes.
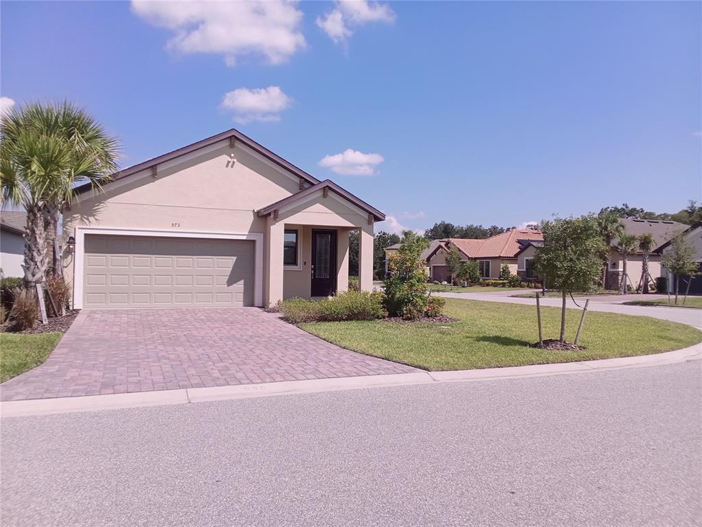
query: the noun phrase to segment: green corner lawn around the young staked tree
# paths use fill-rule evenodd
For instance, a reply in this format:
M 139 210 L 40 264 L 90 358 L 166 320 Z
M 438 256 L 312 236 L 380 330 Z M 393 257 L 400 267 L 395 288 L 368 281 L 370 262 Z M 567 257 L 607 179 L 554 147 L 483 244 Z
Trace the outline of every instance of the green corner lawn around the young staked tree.
M 565 363 L 574 360 L 659 353 L 702 341 L 702 332 L 648 317 L 590 311 L 581 344 L 586 351 L 529 348 L 538 340 L 536 308 L 463 299 L 446 299 L 446 314 L 458 322 L 308 323 L 301 327 L 347 349 L 425 370 Z M 559 308 L 542 308 L 545 338 L 557 338 Z M 572 341 L 581 311 L 568 310 L 567 339 Z

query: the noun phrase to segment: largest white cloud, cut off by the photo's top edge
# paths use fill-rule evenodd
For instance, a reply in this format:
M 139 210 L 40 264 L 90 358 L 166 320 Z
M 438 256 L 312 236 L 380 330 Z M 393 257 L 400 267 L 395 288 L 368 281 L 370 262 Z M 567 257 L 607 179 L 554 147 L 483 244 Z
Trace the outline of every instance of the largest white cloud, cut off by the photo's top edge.
M 296 2 L 132 0 L 132 11 L 152 25 L 167 27 L 166 47 L 180 53 L 218 53 L 233 66 L 239 56 L 263 55 L 284 63 L 305 48 Z

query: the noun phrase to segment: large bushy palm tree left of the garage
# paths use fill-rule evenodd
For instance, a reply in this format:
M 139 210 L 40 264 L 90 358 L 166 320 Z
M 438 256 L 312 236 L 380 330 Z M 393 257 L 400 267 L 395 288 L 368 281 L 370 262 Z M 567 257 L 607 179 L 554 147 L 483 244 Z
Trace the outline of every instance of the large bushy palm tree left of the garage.
M 9 202 L 27 208 L 27 233 L 37 233 L 25 241 L 25 265 L 32 269 L 28 275 L 25 268 L 25 280 L 41 281 L 39 268 L 43 268 L 41 276 L 46 275 L 48 262 L 43 263 L 39 250 L 46 243 L 39 240 L 40 233 L 50 241 L 51 267 L 60 275 L 60 215 L 76 186 L 89 182 L 100 188 L 117 169 L 117 140 L 84 110 L 70 103 L 26 105 L 4 117 L 0 134 L 2 159 L 8 160 L 7 178 L 3 168 L 3 195 Z M 43 227 L 38 225 L 37 213 Z M 46 259 L 46 252 L 43 254 Z

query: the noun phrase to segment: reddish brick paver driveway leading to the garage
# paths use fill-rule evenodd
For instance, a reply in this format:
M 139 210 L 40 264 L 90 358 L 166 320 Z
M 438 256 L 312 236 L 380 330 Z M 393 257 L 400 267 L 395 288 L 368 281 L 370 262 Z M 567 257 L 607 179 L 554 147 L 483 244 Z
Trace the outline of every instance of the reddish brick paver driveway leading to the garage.
M 3 401 L 417 371 L 342 349 L 258 308 L 83 311 Z

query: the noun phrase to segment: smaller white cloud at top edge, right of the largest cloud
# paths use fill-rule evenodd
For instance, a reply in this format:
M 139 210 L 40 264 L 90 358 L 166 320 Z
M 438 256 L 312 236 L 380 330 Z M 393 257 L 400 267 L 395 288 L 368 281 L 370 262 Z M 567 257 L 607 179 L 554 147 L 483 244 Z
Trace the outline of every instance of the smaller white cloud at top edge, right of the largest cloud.
M 335 42 L 345 43 L 353 34 L 351 27 L 371 22 L 395 22 L 395 11 L 388 4 L 368 0 L 337 0 L 329 13 L 317 17 L 317 25 Z

